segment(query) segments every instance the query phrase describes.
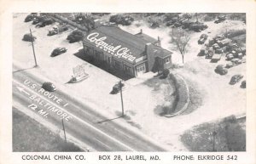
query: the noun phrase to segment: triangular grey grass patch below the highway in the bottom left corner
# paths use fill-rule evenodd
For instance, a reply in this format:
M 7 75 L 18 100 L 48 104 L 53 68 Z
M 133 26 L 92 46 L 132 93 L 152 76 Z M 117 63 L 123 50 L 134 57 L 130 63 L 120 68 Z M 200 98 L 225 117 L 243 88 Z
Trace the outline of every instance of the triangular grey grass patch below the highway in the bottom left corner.
M 13 151 L 83 151 L 73 143 L 65 142 L 39 122 L 13 108 Z

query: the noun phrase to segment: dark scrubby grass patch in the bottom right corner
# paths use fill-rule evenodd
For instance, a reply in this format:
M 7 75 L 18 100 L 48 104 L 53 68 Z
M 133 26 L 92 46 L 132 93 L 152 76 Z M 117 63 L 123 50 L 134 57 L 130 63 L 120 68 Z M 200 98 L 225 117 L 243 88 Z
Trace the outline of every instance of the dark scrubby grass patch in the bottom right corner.
M 245 151 L 245 122 L 246 119 L 230 116 L 219 122 L 203 123 L 183 133 L 181 140 L 191 151 Z

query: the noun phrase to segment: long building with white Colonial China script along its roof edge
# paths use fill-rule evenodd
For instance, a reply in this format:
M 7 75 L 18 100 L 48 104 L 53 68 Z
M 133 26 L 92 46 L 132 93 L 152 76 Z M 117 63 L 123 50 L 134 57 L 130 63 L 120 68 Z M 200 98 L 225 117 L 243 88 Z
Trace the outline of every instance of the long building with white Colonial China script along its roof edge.
M 117 26 L 101 25 L 83 41 L 84 54 L 130 76 L 163 71 L 172 65 L 172 52 L 160 47 L 160 38 L 132 35 Z

